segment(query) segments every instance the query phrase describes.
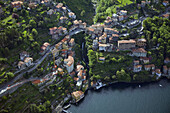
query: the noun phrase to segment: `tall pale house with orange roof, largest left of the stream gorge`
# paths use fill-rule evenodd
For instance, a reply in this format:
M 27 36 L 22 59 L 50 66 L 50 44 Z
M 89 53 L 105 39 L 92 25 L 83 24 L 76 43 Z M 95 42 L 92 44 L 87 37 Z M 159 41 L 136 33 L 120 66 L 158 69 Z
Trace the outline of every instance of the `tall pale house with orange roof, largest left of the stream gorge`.
M 64 64 L 67 68 L 68 73 L 72 72 L 74 69 L 74 58 L 72 56 L 68 56 L 67 59 L 64 59 Z

